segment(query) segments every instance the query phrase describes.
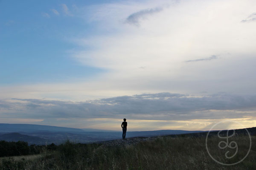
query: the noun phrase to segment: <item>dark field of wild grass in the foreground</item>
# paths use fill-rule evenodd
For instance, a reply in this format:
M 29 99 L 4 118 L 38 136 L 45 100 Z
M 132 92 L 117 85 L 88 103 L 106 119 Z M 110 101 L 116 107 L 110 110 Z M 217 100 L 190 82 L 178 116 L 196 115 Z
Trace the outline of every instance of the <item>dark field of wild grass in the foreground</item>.
M 214 137 L 210 142 L 218 144 Z M 238 161 L 247 153 L 247 139 L 236 136 L 239 153 L 230 160 Z M 158 137 L 151 141 L 129 146 L 104 147 L 101 144 L 74 144 L 67 141 L 57 151 L 41 153 L 37 159 L 1 159 L 0 170 L 255 170 L 256 137 L 247 158 L 239 164 L 225 166 L 216 163 L 208 155 L 205 137 Z M 216 156 L 221 150 L 211 147 Z

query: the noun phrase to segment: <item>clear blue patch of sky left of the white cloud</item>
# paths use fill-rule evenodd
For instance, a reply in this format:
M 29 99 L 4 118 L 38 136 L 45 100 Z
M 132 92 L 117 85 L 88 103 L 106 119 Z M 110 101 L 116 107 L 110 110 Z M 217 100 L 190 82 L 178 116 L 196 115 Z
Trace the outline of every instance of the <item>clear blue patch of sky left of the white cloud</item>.
M 67 41 L 68 37 L 90 36 L 97 31 L 93 29 L 93 23 L 83 22 L 71 11 L 70 15 L 66 14 L 64 3 L 74 5 L 74 1 L 0 2 L 1 84 L 87 79 L 103 71 L 81 65 L 70 57 L 68 51 L 79 47 Z M 76 2 L 76 5 L 91 3 Z M 53 9 L 58 13 L 55 14 Z

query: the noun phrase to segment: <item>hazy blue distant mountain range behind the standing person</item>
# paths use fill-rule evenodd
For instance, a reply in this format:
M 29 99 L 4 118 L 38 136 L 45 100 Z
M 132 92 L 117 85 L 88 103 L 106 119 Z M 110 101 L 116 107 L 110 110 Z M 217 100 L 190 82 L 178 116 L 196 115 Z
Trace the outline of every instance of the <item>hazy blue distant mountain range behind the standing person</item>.
M 203 131 L 189 130 L 152 130 L 152 131 L 127 131 L 126 137 L 137 136 L 162 136 L 184 133 L 199 133 Z M 29 144 L 61 144 L 70 139 L 73 142 L 89 143 L 122 138 L 121 131 L 78 129 L 70 127 L 57 127 L 30 124 L 0 123 L 0 140 L 24 141 Z

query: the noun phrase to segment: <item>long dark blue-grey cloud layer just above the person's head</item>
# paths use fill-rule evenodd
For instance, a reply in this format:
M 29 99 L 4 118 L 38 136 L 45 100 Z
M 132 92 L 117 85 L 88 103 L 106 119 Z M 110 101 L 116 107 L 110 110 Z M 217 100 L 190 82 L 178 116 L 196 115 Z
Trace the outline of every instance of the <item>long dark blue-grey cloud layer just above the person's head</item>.
M 20 101 L 20 102 L 19 102 Z M 214 94 L 189 96 L 184 94 L 158 93 L 134 96 L 118 96 L 87 102 L 70 102 L 38 99 L 0 101 L 0 116 L 22 118 L 117 118 L 130 116 L 136 119 L 214 119 L 237 117 L 234 111 L 256 109 L 256 96 Z M 211 110 L 214 110 L 212 112 Z M 221 111 L 226 111 L 225 114 Z M 243 116 L 246 114 L 243 113 Z M 247 114 L 248 116 L 248 114 Z

